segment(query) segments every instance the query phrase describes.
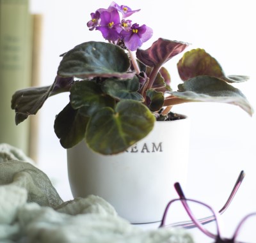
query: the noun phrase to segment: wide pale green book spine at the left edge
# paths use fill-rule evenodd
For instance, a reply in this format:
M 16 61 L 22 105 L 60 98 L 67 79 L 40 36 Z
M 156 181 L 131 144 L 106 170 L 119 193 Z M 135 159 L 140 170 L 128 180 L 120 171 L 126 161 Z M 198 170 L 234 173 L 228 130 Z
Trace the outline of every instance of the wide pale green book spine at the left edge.
M 28 0 L 0 0 L 0 143 L 28 153 L 29 121 L 15 125 L 12 95 L 31 85 L 31 15 Z

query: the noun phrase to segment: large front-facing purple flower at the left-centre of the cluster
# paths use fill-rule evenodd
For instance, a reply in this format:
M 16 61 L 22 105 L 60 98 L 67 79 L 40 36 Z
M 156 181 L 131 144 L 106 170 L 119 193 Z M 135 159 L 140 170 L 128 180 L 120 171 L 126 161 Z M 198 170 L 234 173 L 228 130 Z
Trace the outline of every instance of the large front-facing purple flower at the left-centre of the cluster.
M 118 40 L 120 37 L 119 33 L 122 31 L 118 11 L 103 11 L 100 13 L 100 26 L 97 26 L 96 29 L 102 33 L 106 40 Z

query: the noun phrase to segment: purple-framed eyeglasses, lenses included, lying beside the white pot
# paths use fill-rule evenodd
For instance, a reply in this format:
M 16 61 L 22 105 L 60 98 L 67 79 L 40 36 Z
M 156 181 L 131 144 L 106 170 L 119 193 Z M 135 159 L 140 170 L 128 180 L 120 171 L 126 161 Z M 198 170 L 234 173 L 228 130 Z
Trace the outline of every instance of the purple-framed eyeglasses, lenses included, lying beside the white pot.
M 216 243 L 256 243 L 256 233 L 253 234 L 254 236 L 248 233 L 256 230 L 256 212 L 248 214 L 241 220 L 232 239 L 223 239 L 220 236 L 220 220 L 218 217 L 225 212 L 232 202 L 244 179 L 244 175 L 243 171 L 239 174 L 227 202 L 218 213 L 214 212 L 212 207 L 205 203 L 186 198 L 180 184 L 178 182 L 175 183 L 174 186 L 180 198 L 168 203 L 159 227 L 196 228 L 204 233 L 205 236 L 214 239 Z M 253 239 L 253 237 L 255 238 Z

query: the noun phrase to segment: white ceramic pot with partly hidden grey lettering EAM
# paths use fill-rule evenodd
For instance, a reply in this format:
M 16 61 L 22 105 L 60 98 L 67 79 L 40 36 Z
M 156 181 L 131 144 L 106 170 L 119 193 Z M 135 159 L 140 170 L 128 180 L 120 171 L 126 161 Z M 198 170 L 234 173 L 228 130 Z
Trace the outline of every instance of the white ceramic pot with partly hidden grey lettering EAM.
M 102 156 L 84 142 L 67 150 L 73 196 L 98 195 L 131 223 L 160 221 L 166 204 L 177 198 L 174 182 L 186 183 L 189 119 L 158 121 L 128 152 Z

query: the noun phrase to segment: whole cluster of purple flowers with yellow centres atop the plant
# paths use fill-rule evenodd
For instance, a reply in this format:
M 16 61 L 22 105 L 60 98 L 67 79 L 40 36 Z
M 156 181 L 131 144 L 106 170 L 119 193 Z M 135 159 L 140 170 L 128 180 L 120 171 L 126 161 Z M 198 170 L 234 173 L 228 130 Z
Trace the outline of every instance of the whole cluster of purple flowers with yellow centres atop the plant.
M 142 43 L 152 37 L 153 30 L 143 24 L 140 26 L 132 20 L 125 18 L 140 10 L 131 10 L 128 6 L 119 6 L 112 2 L 108 9 L 99 8 L 95 13 L 91 13 L 91 20 L 87 23 L 90 31 L 99 30 L 102 36 L 112 43 L 124 43 L 129 50 L 137 50 Z M 120 14 L 122 13 L 122 19 Z

